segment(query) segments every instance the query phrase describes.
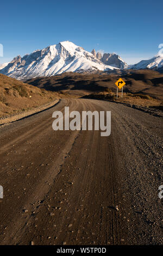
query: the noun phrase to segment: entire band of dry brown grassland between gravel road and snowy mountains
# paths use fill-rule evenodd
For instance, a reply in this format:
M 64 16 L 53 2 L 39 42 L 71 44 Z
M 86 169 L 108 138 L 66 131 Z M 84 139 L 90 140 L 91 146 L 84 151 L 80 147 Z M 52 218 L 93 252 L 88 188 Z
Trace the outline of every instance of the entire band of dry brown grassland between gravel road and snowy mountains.
M 55 99 L 89 97 L 143 107 L 162 108 L 163 76 L 156 71 L 126 71 L 123 97 L 116 100 L 117 74 L 64 73 L 34 78 L 30 84 L 0 74 L 0 118 L 26 111 Z

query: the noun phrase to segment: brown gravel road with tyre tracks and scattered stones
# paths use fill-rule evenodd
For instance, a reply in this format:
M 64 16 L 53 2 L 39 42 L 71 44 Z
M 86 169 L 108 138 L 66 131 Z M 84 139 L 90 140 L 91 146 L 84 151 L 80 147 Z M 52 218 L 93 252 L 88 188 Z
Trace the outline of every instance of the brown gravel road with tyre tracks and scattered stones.
M 111 135 L 54 131 L 52 113 L 111 111 Z M 1 245 L 163 244 L 162 119 L 61 100 L 0 127 Z

